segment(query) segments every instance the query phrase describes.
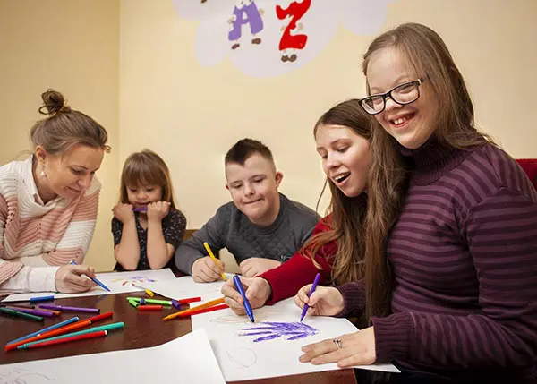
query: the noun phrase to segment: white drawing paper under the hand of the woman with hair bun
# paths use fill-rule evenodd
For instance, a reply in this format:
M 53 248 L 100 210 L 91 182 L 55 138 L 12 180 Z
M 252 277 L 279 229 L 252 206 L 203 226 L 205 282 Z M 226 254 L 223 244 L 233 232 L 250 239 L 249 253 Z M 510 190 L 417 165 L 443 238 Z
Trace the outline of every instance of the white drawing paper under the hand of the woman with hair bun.
M 31 297 L 38 297 L 47 294 L 54 294 L 56 299 L 65 297 L 82 297 L 82 296 L 97 296 L 100 294 L 124 294 L 126 292 L 143 291 L 142 286 L 146 283 L 162 282 L 175 280 L 174 272 L 171 269 L 157 270 L 138 270 L 132 272 L 107 272 L 98 273 L 96 277 L 100 282 L 110 289 L 110 292 L 105 291 L 100 286 L 91 288 L 88 292 L 80 294 L 58 294 L 55 292 L 40 292 L 31 294 L 10 294 L 2 302 L 27 301 Z

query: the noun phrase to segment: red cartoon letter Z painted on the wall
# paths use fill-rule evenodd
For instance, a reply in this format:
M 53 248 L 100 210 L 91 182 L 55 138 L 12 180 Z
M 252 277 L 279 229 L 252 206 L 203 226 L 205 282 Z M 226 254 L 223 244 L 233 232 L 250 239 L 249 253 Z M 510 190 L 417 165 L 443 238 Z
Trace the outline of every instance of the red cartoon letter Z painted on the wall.
M 306 47 L 308 36 L 303 33 L 297 33 L 303 30 L 303 23 L 300 21 L 303 15 L 308 12 L 311 6 L 311 0 L 292 0 L 286 3 L 286 6 L 278 4 L 276 6 L 276 15 L 279 20 L 288 21 L 282 27 L 283 34 L 279 42 L 279 50 L 282 62 L 294 63 L 297 59 L 296 51 Z

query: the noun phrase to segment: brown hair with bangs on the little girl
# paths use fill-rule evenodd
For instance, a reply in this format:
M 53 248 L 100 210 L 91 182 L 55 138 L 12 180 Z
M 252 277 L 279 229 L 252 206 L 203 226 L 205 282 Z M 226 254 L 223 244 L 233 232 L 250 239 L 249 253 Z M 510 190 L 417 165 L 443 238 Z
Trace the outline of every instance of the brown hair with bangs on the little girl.
M 119 202 L 128 204 L 127 188 L 139 184 L 160 186 L 162 188 L 162 201 L 169 201 L 171 207 L 175 208 L 174 187 L 170 171 L 166 162 L 152 150 L 144 149 L 141 152 L 132 153 L 125 160 L 121 173 Z

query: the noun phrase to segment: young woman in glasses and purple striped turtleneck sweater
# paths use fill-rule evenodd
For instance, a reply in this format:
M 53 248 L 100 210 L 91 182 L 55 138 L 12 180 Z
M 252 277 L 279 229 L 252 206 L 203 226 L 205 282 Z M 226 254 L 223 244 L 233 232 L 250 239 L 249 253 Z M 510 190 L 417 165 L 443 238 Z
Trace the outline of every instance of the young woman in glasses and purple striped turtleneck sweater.
M 295 296 L 371 327 L 303 347 L 302 362 L 398 365 L 392 382 L 537 382 L 537 192 L 478 132 L 439 35 L 404 24 L 364 56 L 373 132 L 364 281 Z M 405 194 L 386 166 L 396 147 Z

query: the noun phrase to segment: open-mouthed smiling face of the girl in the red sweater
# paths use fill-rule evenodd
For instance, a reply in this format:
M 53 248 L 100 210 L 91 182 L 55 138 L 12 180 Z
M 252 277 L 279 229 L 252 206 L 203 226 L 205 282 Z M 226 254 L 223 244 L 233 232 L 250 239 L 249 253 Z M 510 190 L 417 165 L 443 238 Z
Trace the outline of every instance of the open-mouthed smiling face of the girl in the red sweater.
M 328 180 L 347 197 L 361 194 L 371 166 L 370 142 L 343 125 L 320 125 L 315 141 Z

